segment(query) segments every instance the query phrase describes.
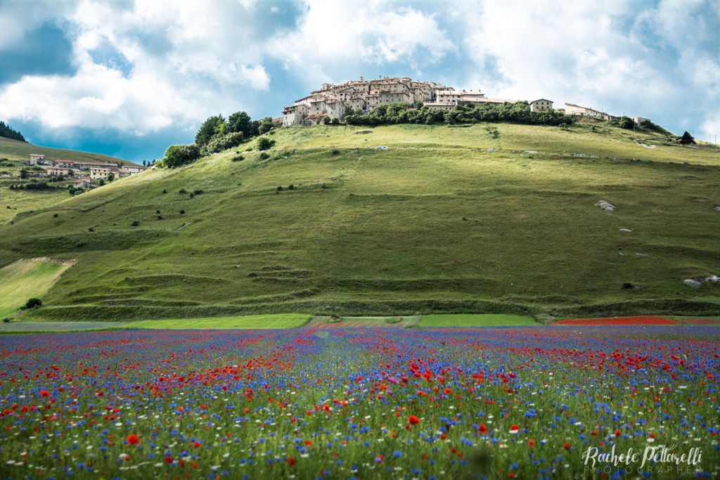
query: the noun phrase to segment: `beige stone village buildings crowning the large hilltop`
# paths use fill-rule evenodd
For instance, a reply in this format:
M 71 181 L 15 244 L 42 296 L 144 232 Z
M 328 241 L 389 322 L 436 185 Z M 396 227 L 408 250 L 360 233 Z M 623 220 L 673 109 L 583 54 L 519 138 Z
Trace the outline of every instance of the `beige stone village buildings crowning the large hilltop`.
M 320 90 L 296 100 L 289 107 L 282 110 L 282 126 L 293 125 L 310 126 L 327 122 L 327 119 L 342 120 L 348 109 L 354 112 L 370 112 L 382 104 L 405 103 L 428 109 L 453 110 L 458 105 L 468 104 L 515 104 L 518 99 L 488 98 L 481 91 L 455 90 L 433 81 L 414 81 L 409 77 L 380 77 L 346 83 L 323 83 Z M 553 101 L 536 99 L 527 101 L 531 112 L 547 112 L 553 110 Z M 580 107 L 575 104 L 565 104 L 564 109 L 557 109 L 567 115 L 592 117 L 603 120 L 619 120 L 606 112 Z M 632 117 L 636 124 L 647 122 L 642 117 Z M 277 119 L 276 123 L 280 119 Z

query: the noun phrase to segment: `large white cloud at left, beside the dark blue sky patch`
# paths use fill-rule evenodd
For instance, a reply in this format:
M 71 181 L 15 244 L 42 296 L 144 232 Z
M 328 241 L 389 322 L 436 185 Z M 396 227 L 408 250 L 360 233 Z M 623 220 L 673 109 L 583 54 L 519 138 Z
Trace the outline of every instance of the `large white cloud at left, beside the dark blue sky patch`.
M 222 2 L 140 0 L 122 9 L 81 1 L 65 17 L 76 72 L 24 76 L 0 88 L 1 114 L 51 130 L 109 127 L 145 135 L 171 125 L 197 127 L 228 96 L 269 88 L 259 45 L 244 43 L 247 34 L 227 9 Z M 148 50 L 138 32 L 164 40 L 168 51 Z M 97 58 L 104 45 L 116 50 L 126 71 Z

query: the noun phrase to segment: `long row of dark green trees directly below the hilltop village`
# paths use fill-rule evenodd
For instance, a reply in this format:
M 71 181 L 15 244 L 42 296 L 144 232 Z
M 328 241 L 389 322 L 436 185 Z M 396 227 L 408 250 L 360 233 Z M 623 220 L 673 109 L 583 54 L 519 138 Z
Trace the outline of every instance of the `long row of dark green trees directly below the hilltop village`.
M 563 125 L 575 122 L 575 117 L 554 110 L 531 112 L 526 101 L 501 105 L 476 103 L 457 105 L 452 110 L 429 109 L 422 104 L 383 104 L 371 112 L 351 112 L 345 121 L 351 125 L 382 125 L 393 123 L 416 124 L 472 124 L 478 122 L 504 122 L 528 125 Z

